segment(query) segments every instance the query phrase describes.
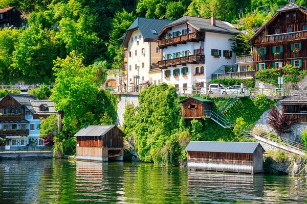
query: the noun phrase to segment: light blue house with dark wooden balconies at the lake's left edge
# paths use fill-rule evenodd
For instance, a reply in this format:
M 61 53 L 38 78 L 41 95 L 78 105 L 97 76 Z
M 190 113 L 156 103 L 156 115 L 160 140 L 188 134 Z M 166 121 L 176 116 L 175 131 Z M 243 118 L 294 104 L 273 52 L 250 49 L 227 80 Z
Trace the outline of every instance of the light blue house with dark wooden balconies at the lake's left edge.
M 0 136 L 7 139 L 5 145 L 44 145 L 39 138 L 41 118 L 57 114 L 54 102 L 38 100 L 33 95 L 8 93 L 0 98 Z

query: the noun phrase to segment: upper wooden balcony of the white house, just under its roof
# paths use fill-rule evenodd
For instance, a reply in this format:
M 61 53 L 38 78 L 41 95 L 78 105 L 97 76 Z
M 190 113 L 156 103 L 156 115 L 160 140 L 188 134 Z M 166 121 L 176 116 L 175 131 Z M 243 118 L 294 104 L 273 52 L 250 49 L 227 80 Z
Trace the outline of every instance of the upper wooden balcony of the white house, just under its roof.
M 159 47 L 166 48 L 167 46 L 176 46 L 176 44 L 186 44 L 187 41 L 199 42 L 205 40 L 204 33 L 189 33 L 181 36 L 172 37 L 169 39 L 159 40 Z

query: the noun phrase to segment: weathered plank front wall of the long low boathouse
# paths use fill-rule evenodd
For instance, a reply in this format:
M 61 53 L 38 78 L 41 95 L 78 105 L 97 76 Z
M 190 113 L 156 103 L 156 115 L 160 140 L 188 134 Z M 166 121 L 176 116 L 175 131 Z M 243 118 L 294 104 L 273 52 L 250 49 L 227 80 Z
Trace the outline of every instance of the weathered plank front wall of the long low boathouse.
M 188 151 L 188 168 L 211 171 L 253 173 L 253 155 Z

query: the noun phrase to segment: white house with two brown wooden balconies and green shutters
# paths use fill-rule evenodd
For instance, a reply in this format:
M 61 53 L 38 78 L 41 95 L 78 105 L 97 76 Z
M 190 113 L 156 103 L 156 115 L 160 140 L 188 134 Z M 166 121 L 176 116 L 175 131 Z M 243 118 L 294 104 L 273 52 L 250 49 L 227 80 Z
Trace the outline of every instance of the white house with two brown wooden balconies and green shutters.
M 198 16 L 183 16 L 169 24 L 156 37 L 163 59 L 163 82 L 190 93 L 206 86 L 215 72 L 235 66 L 230 38 L 240 32 L 229 22 Z

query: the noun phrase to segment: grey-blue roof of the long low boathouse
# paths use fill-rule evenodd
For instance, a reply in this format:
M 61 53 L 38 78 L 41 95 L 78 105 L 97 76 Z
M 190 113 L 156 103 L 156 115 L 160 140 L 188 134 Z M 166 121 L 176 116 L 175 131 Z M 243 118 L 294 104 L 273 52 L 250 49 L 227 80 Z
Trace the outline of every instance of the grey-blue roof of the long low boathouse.
M 253 154 L 258 145 L 260 145 L 259 142 L 191 141 L 185 150 Z M 265 151 L 261 145 L 260 147 L 263 151 Z

